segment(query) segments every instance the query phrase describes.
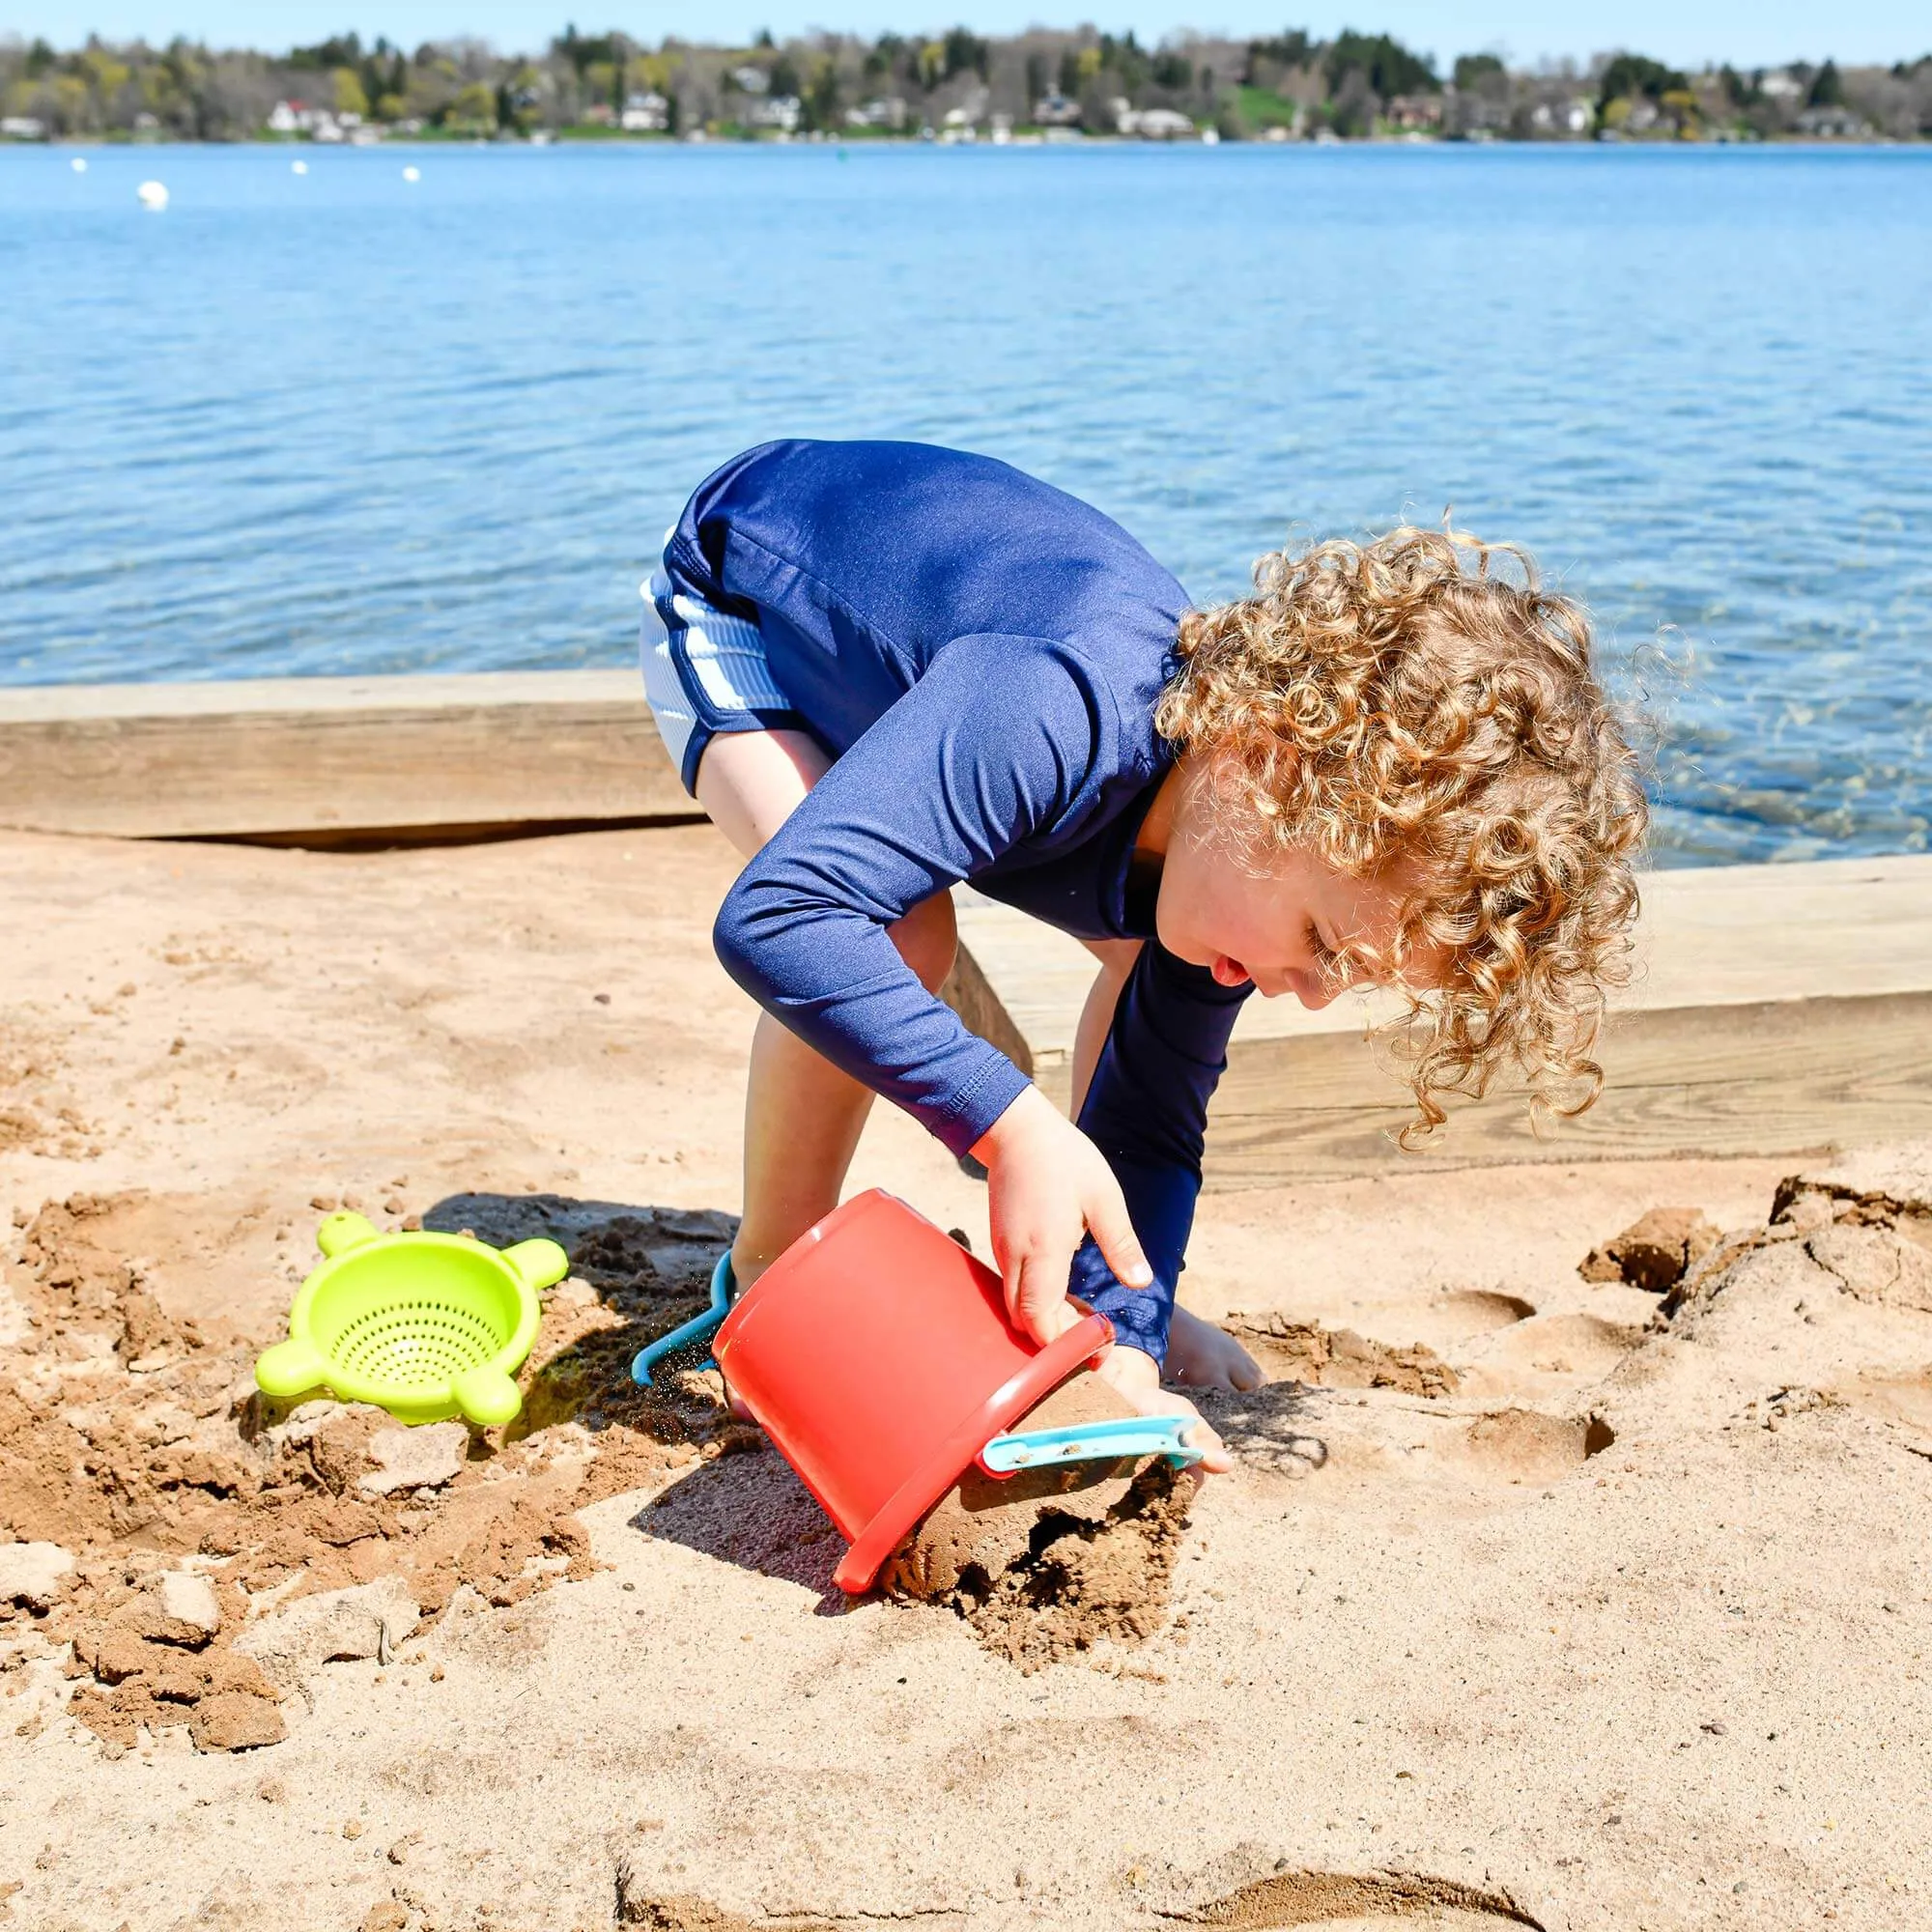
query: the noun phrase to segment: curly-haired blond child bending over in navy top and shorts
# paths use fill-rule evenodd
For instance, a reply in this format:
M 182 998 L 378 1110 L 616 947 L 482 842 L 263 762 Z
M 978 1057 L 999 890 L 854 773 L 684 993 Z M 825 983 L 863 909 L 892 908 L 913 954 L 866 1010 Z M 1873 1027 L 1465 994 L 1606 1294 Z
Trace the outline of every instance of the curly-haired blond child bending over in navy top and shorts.
M 838 1204 L 873 1094 L 987 1169 L 1014 1321 L 1101 1374 L 1252 1387 L 1175 1308 L 1242 1001 L 1410 993 L 1412 1130 L 1515 1065 L 1590 1105 L 1646 810 L 1582 612 L 1422 529 L 1264 556 L 1198 611 L 1097 510 L 912 442 L 771 442 L 692 497 L 643 676 L 746 867 L 717 951 L 765 1012 L 738 1289 Z M 935 997 L 970 881 L 1076 935 L 1072 1119 Z M 1406 1138 L 1406 1136 L 1405 1136 Z M 1206 1468 L 1229 1468 L 1202 1422 Z

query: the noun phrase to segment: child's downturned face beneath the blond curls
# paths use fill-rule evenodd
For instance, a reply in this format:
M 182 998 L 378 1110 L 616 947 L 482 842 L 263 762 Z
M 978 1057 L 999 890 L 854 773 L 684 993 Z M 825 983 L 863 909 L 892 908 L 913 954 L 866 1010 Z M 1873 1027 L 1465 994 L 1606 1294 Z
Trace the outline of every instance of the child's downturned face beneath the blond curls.
M 1352 879 L 1314 852 L 1291 850 L 1258 875 L 1206 835 L 1198 804 L 1194 794 L 1175 813 L 1155 914 L 1161 945 L 1208 966 L 1221 985 L 1252 980 L 1264 999 L 1293 993 L 1310 1010 L 1350 983 L 1370 983 L 1350 980 L 1337 956 L 1349 945 L 1391 952 L 1410 887 L 1406 867 Z M 1439 962 L 1412 960 L 1405 980 L 1420 991 L 1437 970 Z

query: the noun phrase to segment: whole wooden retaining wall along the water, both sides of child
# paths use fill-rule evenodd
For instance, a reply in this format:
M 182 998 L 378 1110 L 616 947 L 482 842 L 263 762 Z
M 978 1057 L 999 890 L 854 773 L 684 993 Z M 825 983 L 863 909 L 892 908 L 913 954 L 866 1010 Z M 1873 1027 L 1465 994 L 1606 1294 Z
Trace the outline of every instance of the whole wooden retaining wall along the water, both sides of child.
M 278 678 L 0 692 L 0 827 L 371 846 L 690 819 L 634 672 Z M 1094 966 L 956 893 L 945 995 L 1061 1101 Z M 1208 1184 L 1376 1173 L 1410 1157 L 1387 1009 L 1250 1001 Z M 1665 871 L 1642 974 L 1602 1047 L 1604 1099 L 1538 1130 L 1466 1103 L 1422 1159 L 1801 1155 L 1932 1134 L 1932 858 Z

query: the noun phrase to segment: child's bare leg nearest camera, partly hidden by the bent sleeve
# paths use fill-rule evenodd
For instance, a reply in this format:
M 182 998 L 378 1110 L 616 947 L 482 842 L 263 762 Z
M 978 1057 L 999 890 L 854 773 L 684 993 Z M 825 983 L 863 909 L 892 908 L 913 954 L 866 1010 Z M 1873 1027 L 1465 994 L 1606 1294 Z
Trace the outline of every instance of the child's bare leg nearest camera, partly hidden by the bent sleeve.
M 790 817 L 829 759 L 804 732 L 728 732 L 697 765 L 697 802 L 744 858 Z M 956 935 L 945 893 L 889 927 L 929 989 L 952 970 Z M 752 1039 L 744 1107 L 744 1219 L 732 1242 L 740 1289 L 838 1206 L 871 1107 L 871 1090 L 821 1059 L 769 1012 Z

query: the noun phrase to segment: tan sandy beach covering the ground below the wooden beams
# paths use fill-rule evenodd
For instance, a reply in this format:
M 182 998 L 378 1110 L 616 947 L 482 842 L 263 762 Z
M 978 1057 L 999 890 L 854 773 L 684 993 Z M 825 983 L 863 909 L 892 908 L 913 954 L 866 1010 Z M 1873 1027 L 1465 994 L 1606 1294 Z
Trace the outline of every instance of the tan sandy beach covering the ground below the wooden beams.
M 1022 1669 L 622 1381 L 736 1208 L 730 873 L 0 835 L 0 1922 L 1932 1922 L 1932 1150 L 1206 1196 L 1277 1379 L 1157 1629 Z M 887 1109 L 875 1184 L 985 1254 Z M 508 1439 L 253 1403 L 338 1206 L 572 1250 Z M 1584 1279 L 1654 1208 L 1727 1238 Z

